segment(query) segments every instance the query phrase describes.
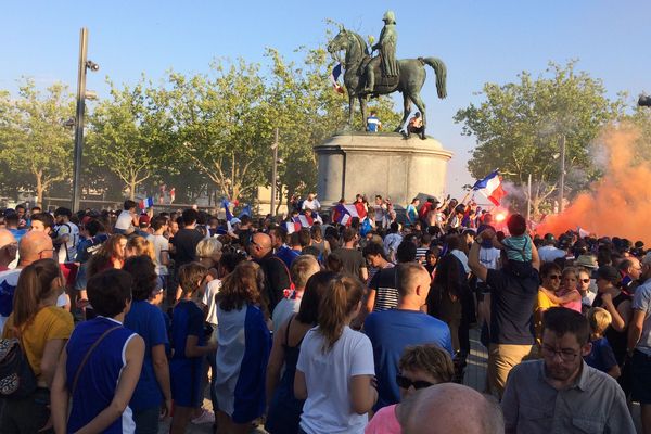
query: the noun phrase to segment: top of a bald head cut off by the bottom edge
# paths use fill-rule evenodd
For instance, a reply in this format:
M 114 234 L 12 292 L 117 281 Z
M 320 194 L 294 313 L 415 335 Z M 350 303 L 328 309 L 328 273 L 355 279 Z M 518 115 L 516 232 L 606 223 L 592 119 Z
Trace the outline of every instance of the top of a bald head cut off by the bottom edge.
M 403 434 L 503 434 L 499 405 L 490 397 L 456 383 L 420 391 L 400 406 Z

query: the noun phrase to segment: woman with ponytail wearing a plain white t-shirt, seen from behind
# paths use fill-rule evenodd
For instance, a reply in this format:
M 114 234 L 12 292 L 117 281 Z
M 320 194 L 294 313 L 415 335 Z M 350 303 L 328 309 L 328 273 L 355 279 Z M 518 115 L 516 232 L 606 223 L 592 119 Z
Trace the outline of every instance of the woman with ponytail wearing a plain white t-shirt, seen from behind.
M 363 433 L 378 391 L 371 341 L 349 327 L 362 296 L 359 280 L 340 275 L 321 298 L 318 326 L 305 335 L 296 363 L 294 395 L 306 399 L 299 433 Z

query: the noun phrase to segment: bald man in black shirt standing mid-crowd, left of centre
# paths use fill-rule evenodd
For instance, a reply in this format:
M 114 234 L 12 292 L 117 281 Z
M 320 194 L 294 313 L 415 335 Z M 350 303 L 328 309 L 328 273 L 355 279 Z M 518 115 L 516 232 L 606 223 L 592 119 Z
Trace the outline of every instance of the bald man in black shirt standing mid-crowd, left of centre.
M 283 291 L 290 289 L 290 271 L 282 259 L 273 255 L 271 238 L 266 233 L 253 234 L 251 244 L 248 244 L 248 253 L 265 273 L 263 299 L 270 314 L 278 302 L 282 299 Z

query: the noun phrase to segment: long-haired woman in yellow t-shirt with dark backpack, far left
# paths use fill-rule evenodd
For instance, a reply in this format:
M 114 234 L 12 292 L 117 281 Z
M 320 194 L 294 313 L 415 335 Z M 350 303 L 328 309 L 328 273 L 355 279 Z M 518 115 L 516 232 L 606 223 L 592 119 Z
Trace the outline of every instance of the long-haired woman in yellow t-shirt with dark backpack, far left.
M 65 342 L 74 329 L 73 316 L 56 307 L 64 281 L 59 264 L 39 259 L 21 271 L 13 298 L 13 312 L 3 339 L 18 339 L 37 380 L 37 388 L 23 398 L 4 399 L 0 416 L 3 433 L 52 432 L 50 388 Z

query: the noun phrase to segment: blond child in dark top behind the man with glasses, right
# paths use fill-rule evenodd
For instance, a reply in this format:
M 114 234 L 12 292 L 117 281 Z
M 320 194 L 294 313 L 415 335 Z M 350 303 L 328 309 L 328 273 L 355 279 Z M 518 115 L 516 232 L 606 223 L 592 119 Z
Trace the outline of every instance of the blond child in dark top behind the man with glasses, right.
M 588 366 L 608 373 L 612 378 L 618 378 L 622 372 L 615 360 L 615 354 L 611 348 L 603 332 L 612 322 L 610 312 L 601 307 L 592 307 L 588 310 L 588 322 L 590 323 L 590 343 L 592 349 L 590 354 L 584 356 Z

